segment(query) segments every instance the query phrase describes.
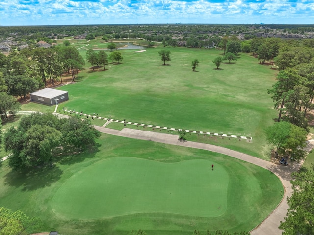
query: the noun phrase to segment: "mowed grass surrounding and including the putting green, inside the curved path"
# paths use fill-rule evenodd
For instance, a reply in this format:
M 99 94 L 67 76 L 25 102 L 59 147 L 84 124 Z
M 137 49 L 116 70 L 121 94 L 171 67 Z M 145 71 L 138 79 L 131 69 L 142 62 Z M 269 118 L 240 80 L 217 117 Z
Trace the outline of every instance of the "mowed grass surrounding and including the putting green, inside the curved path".
M 53 168 L 13 172 L 4 162 L 1 206 L 39 216 L 35 232 L 190 235 L 251 230 L 282 198 L 274 174 L 232 157 L 105 134 L 97 142 Z

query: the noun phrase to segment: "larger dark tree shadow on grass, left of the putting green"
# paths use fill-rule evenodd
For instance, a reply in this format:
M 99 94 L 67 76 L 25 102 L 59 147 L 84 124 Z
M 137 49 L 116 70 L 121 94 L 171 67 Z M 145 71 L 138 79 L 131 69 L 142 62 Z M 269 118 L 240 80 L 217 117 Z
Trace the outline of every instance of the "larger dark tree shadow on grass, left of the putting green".
M 57 167 L 33 167 L 21 171 L 10 171 L 4 177 L 4 184 L 16 188 L 22 187 L 22 191 L 32 191 L 38 188 L 50 186 L 60 180 L 63 171 Z

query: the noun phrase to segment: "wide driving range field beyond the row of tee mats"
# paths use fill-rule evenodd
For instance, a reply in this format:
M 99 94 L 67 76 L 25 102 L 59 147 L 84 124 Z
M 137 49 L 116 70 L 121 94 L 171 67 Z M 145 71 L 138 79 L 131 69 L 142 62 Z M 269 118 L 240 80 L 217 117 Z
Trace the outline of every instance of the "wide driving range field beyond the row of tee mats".
M 229 147 L 238 149 L 240 144 L 242 152 L 268 159 L 264 128 L 272 125 L 277 112 L 267 89 L 277 72 L 245 53 L 216 70 L 212 60 L 222 51 L 215 49 L 165 48 L 171 51 L 171 61 L 163 66 L 158 56 L 161 49 L 120 50 L 122 63 L 110 63 L 105 71 L 92 72 L 86 64 L 76 84 L 59 88 L 68 91 L 70 98 L 59 109 L 64 106 L 131 122 L 250 136 L 253 143 Z M 81 51 L 83 57 L 85 53 Z M 192 72 L 195 58 L 200 64 Z

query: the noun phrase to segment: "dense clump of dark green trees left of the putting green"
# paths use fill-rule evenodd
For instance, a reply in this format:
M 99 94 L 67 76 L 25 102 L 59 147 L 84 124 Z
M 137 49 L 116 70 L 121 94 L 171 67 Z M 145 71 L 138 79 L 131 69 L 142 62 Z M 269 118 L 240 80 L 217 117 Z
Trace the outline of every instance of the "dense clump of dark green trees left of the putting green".
M 79 152 L 94 145 L 100 132 L 89 120 L 79 117 L 58 119 L 52 114 L 24 116 L 17 128 L 4 134 L 6 151 L 11 151 L 8 164 L 13 169 L 51 164 L 58 152 Z

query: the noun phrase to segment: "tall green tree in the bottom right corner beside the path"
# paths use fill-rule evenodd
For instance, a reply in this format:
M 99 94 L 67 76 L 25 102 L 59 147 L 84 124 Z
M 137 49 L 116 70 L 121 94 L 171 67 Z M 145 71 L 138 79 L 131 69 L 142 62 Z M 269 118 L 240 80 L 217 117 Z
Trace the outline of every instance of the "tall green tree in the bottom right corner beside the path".
M 314 234 L 314 164 L 306 172 L 292 173 L 293 193 L 288 198 L 288 213 L 279 228 L 283 235 Z

